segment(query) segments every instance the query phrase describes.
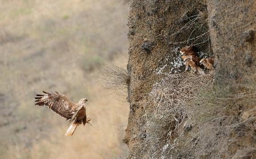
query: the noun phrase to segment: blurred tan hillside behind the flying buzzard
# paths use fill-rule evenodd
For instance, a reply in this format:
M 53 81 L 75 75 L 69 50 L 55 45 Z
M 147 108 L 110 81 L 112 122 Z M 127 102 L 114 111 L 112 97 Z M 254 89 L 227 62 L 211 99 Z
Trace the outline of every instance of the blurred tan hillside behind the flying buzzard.
M 126 95 L 102 88 L 99 70 L 127 63 L 127 12 L 118 0 L 0 0 L 0 158 L 126 156 Z M 68 122 L 34 106 L 41 91 L 88 98 L 95 129 L 64 136 Z

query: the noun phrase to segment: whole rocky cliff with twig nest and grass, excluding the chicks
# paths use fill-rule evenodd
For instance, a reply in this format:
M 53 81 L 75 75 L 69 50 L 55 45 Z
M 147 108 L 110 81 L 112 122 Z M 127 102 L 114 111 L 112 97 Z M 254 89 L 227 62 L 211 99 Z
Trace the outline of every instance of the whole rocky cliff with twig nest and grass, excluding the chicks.
M 130 150 L 129 158 L 231 158 L 236 154 L 239 156 L 241 152 L 246 152 L 244 156 L 255 155 L 255 109 L 251 105 L 255 105 L 255 89 L 250 89 L 251 85 L 255 85 L 253 4 L 253 1 L 235 3 L 210 0 L 130 2 L 127 65 L 131 77 L 127 97 L 130 114 L 124 138 Z M 192 75 L 184 72 L 178 50 L 187 45 L 195 45 L 200 58 L 215 57 L 215 73 L 206 71 L 205 75 Z M 246 80 L 247 77 L 250 80 Z M 248 87 L 231 87 L 241 81 Z M 216 123 L 219 126 L 223 122 L 236 130 L 243 127 L 242 131 L 250 135 L 240 138 L 247 137 L 250 142 L 247 142 L 248 148 L 246 142 L 241 147 L 237 146 L 240 144 L 240 140 L 234 137 L 237 132 L 230 130 L 230 134 L 225 135 L 230 137 L 228 139 L 236 138 L 236 144 L 225 143 L 222 151 L 227 150 L 228 154 L 217 155 L 218 144 L 210 151 L 204 149 L 213 147 L 211 144 L 215 143 L 212 141 L 216 137 L 220 139 L 221 135 L 218 134 L 222 132 L 216 131 L 216 134 L 207 136 L 207 131 L 212 130 L 205 128 L 204 131 L 204 127 L 207 121 L 212 120 L 211 117 L 222 117 L 216 116 L 220 114 L 217 111 L 220 104 L 216 106 L 216 101 L 220 96 L 226 96 L 223 91 L 220 96 L 212 92 L 219 93 L 220 88 L 226 85 L 230 86 L 225 89 L 228 90 L 227 94 L 246 90 L 254 101 L 247 98 L 223 101 L 227 105 L 236 105 L 226 109 L 237 113 L 230 115 L 225 111 L 226 116 L 234 118 L 224 118 L 209 126 L 214 127 Z M 213 102 L 194 100 L 205 96 L 210 96 Z M 194 98 L 191 100 L 189 97 Z M 251 104 L 237 106 L 241 101 Z M 207 114 L 202 109 L 212 113 Z M 196 112 L 200 115 L 195 115 Z M 247 112 L 247 116 L 244 112 Z M 246 117 L 242 118 L 242 115 Z M 201 116 L 205 118 L 201 119 Z M 225 120 L 233 121 L 232 125 Z M 241 126 L 241 122 L 245 125 Z M 205 140 L 208 138 L 213 140 Z

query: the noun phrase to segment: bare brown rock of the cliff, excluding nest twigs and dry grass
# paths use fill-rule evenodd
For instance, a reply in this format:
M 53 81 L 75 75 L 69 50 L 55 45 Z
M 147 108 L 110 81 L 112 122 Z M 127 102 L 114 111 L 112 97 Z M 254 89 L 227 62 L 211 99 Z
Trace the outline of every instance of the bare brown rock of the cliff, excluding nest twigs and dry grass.
M 194 24 L 195 17 L 195 22 L 199 25 L 184 29 Z M 222 87 L 228 81 L 231 86 L 230 83 L 241 82 L 241 79 L 245 79 L 245 82 L 246 76 L 255 74 L 255 17 L 253 0 L 130 2 L 127 65 L 131 77 L 127 97 L 130 114 L 123 139 L 129 147 L 128 158 L 196 158 L 193 152 L 189 152 L 191 148 L 187 154 L 177 155 L 180 149 L 183 148 L 182 151 L 185 152 L 186 148 L 174 149 L 177 136 L 170 132 L 176 128 L 176 118 L 164 114 L 152 120 L 154 112 L 159 108 L 149 99 L 148 93 L 166 74 L 184 71 L 178 49 L 186 45 L 196 44 L 200 58 L 213 57 L 214 53 L 214 80 L 217 85 Z M 212 44 L 210 40 L 207 41 L 207 36 L 197 39 L 199 36 L 208 35 L 208 29 Z M 186 128 L 191 129 L 192 127 Z M 188 137 L 188 140 L 191 138 Z M 255 139 L 249 144 L 253 147 Z M 230 148 L 231 154 L 239 152 L 238 149 L 240 148 Z M 255 154 L 250 151 L 246 155 L 253 157 Z M 200 156 L 207 157 L 210 158 L 207 154 Z

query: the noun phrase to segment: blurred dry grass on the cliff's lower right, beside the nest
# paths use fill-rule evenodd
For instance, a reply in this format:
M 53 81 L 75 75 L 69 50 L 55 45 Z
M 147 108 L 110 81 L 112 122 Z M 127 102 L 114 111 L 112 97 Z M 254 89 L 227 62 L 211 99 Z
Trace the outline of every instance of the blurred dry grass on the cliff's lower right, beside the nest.
M 237 149 L 247 151 L 254 147 L 255 90 L 255 85 L 251 85 L 250 89 L 239 93 L 225 89 L 204 91 L 193 101 L 195 114 L 192 120 L 199 124 L 192 144 L 197 145 L 196 158 L 232 158 Z M 250 153 L 254 158 L 255 150 Z

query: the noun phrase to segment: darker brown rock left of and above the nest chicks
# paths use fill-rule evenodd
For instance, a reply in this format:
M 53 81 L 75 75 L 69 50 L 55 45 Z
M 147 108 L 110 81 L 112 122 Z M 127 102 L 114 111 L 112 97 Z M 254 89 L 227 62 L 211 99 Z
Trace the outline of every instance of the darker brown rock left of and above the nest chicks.
M 129 158 L 170 158 L 170 154 L 165 154 L 170 152 L 165 152 L 166 149 L 171 149 L 166 146 L 166 130 L 170 129 L 174 119 L 159 118 L 159 121 L 153 121 L 158 127 L 148 127 L 147 118 L 152 114 L 146 111 L 154 111 L 156 106 L 148 101 L 147 94 L 165 73 L 184 71 L 178 49 L 191 44 L 192 41 L 187 43 L 189 36 L 192 38 L 205 33 L 205 29 L 195 29 L 192 22 L 197 18 L 198 24 L 208 28 L 206 19 L 200 15 L 207 14 L 206 11 L 204 1 L 131 1 L 127 65 L 131 76 L 127 97 L 130 114 L 124 138 L 130 149 Z M 191 28 L 184 29 L 189 25 Z M 191 35 L 193 29 L 195 32 Z M 200 40 L 193 42 L 200 43 Z M 212 55 L 208 42 L 197 47 L 199 56 Z

